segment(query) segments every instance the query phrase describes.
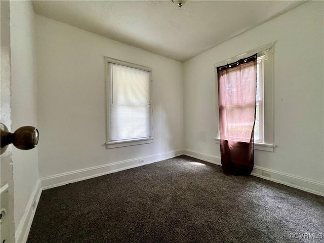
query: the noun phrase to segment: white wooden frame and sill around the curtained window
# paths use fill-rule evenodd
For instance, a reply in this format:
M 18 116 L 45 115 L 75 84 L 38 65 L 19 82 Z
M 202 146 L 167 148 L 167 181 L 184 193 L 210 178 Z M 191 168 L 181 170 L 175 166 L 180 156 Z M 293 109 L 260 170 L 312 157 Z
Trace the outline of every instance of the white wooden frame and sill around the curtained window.
M 262 101 L 260 104 L 262 105 L 263 114 L 261 114 L 263 120 L 260 120 L 260 128 L 262 129 L 262 139 L 256 140 L 254 142 L 256 150 L 263 150 L 273 152 L 274 144 L 274 43 L 262 46 L 253 51 L 249 51 L 235 57 L 229 58 L 222 62 L 218 62 L 214 64 L 215 71 L 215 97 L 218 97 L 218 75 L 217 75 L 217 67 L 226 65 L 227 63 L 232 63 L 237 61 L 238 59 L 251 56 L 255 53 L 258 53 L 258 60 L 260 58 L 265 57 L 267 60 L 263 61 L 263 85 L 262 85 Z M 217 144 L 220 143 L 219 136 L 219 107 L 218 107 L 218 99 L 216 99 L 216 127 L 215 127 L 215 141 Z

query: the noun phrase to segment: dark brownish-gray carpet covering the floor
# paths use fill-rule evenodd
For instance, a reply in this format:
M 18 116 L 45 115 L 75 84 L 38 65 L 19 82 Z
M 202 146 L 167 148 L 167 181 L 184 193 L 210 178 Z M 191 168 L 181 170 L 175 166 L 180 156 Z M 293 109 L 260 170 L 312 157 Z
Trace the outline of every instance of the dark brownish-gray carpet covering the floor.
M 324 240 L 303 233 L 324 238 L 324 197 L 180 156 L 43 191 L 27 242 Z

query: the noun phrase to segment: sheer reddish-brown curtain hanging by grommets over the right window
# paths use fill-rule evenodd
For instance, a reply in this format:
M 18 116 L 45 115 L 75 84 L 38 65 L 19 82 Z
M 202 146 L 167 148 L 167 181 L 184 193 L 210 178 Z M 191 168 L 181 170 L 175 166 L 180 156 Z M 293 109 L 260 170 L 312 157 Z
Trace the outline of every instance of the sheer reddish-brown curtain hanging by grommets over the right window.
M 257 54 L 217 67 L 219 130 L 225 175 L 250 175 L 254 165 Z

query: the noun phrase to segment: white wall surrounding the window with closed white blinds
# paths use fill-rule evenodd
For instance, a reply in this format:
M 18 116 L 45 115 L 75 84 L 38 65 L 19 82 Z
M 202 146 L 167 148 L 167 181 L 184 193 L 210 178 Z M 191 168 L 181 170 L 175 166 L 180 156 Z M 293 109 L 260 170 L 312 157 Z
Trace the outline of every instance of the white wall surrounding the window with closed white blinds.
M 36 15 L 41 178 L 183 148 L 182 63 Z M 152 67 L 155 139 L 106 149 L 104 56 Z

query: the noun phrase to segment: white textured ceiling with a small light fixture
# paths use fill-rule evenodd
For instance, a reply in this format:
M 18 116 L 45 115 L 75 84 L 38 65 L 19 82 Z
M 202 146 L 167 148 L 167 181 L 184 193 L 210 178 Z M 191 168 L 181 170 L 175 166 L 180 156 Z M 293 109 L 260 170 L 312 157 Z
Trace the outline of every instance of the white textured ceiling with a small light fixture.
M 303 1 L 33 1 L 36 14 L 186 61 Z

